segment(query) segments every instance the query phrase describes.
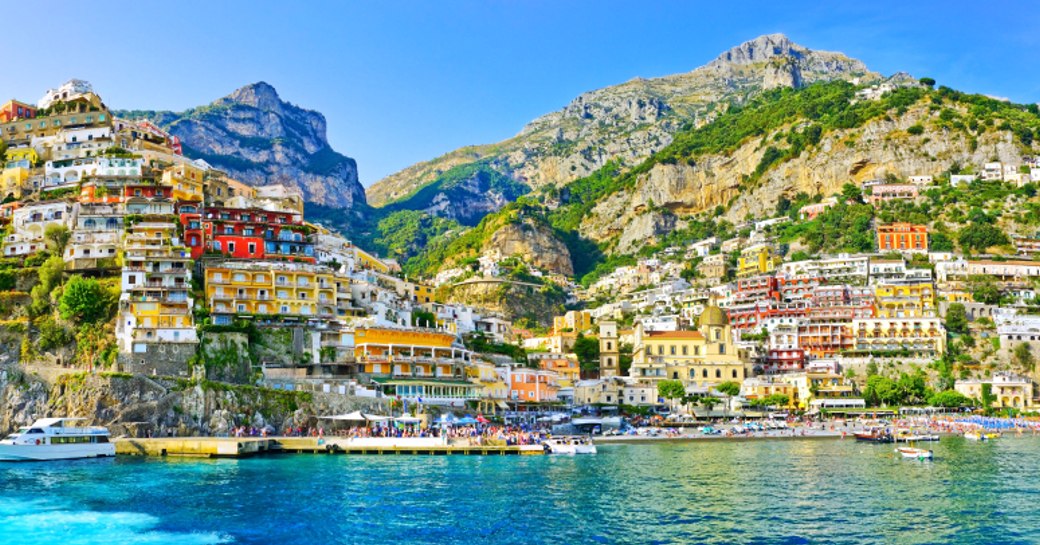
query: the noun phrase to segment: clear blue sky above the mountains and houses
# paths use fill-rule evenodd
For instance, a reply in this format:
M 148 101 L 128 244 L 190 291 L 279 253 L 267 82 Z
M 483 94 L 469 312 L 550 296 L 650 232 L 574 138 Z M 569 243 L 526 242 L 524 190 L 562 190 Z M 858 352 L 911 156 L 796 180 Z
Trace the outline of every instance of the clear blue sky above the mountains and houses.
M 822 6 L 822 4 L 824 6 Z M 37 2 L 8 20 L 0 95 L 69 78 L 113 108 L 180 110 L 254 81 L 324 113 L 362 183 L 501 140 L 575 96 L 691 71 L 770 32 L 872 70 L 1040 101 L 1035 1 Z M 826 6 L 826 7 L 825 7 Z M 31 44 L 31 45 L 30 45 Z

